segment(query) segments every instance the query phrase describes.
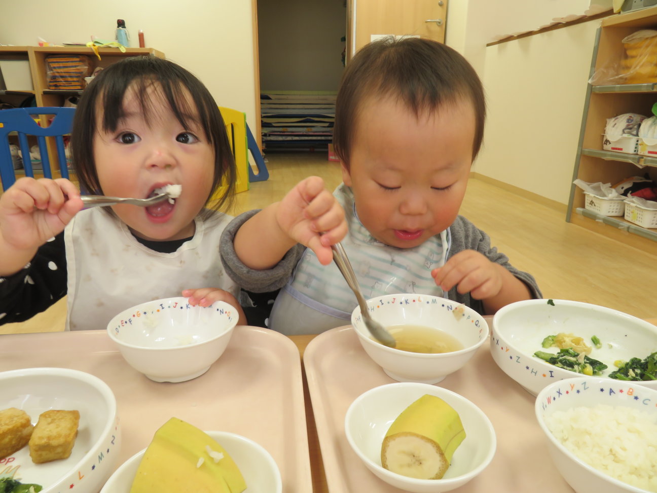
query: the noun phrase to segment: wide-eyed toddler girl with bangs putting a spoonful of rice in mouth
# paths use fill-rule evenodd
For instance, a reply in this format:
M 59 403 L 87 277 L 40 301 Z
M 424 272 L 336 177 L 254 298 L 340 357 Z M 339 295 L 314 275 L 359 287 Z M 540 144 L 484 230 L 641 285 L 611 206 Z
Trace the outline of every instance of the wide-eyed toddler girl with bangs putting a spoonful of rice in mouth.
M 104 329 L 126 308 L 182 292 L 192 305 L 228 302 L 246 324 L 239 287 L 219 260 L 231 219 L 219 211 L 231 203 L 236 170 L 208 89 L 168 60 L 112 64 L 83 92 L 71 145 L 89 193 L 145 199 L 168 185 L 181 193 L 145 208 L 81 211 L 68 179 L 18 179 L 0 197 L 0 323 L 68 294 L 67 330 Z

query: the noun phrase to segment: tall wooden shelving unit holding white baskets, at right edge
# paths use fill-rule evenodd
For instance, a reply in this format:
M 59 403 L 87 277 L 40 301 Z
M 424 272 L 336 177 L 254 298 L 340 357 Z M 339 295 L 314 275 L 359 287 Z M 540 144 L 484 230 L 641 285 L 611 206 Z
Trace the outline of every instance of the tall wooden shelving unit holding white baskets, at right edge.
M 623 37 L 640 29 L 657 29 L 657 7 L 604 18 L 597 32 L 590 76 L 608 60 L 618 57 Z M 630 176 L 643 176 L 646 172 L 653 179 L 657 177 L 657 158 L 602 150 L 607 118 L 629 112 L 650 116 L 656 102 L 656 83 L 589 84 L 573 179 L 614 184 Z M 657 254 L 657 229 L 645 229 L 623 218 L 605 218 L 585 210 L 584 194 L 575 185 L 571 187 L 566 220 Z

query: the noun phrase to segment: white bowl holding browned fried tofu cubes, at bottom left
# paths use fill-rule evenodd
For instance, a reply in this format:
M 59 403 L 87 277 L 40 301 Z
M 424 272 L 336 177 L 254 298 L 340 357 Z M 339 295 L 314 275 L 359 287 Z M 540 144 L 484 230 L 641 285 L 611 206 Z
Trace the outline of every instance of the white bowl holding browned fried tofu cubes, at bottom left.
M 36 424 L 48 410 L 78 410 L 78 437 L 68 459 L 35 464 L 25 446 L 0 459 L 0 474 L 43 486 L 42 493 L 64 490 L 96 493 L 114 471 L 121 450 L 116 399 L 101 379 L 62 368 L 30 368 L 0 373 L 0 410 L 24 410 Z

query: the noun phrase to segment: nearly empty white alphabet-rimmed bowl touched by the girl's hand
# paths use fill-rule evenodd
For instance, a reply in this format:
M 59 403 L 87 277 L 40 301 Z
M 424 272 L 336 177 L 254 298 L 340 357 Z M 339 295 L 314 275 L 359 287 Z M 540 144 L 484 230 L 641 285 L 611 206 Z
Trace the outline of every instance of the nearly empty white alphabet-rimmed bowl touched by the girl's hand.
M 125 361 L 156 382 L 184 382 L 203 375 L 223 354 L 239 316 L 216 301 L 206 308 L 187 298 L 141 303 L 107 325 Z

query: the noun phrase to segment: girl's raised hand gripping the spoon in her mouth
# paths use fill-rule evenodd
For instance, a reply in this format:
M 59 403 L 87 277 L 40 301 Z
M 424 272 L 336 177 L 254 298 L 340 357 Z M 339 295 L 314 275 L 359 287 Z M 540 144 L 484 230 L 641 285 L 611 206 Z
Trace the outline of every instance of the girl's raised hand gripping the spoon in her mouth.
M 0 197 L 2 239 L 16 250 L 38 248 L 64 231 L 83 205 L 68 179 L 18 179 Z

